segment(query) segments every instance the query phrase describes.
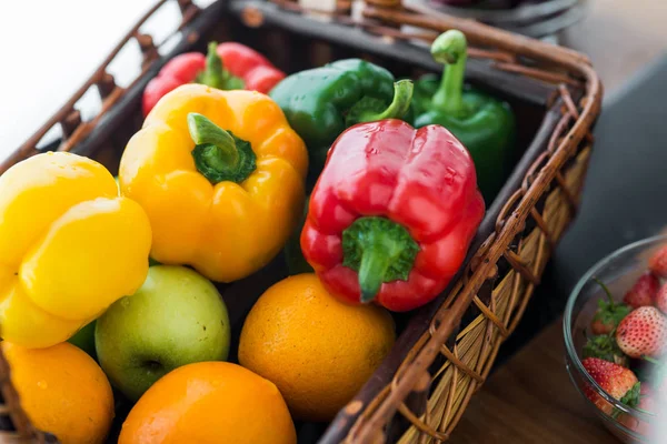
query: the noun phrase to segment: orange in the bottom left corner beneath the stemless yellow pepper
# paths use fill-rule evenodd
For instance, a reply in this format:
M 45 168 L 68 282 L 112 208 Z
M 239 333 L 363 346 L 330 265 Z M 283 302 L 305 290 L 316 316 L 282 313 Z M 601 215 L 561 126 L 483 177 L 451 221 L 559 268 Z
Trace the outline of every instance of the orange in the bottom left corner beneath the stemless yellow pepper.
M 2 343 L 11 381 L 32 424 L 62 444 L 103 443 L 113 420 L 107 376 L 70 343 L 26 349 Z

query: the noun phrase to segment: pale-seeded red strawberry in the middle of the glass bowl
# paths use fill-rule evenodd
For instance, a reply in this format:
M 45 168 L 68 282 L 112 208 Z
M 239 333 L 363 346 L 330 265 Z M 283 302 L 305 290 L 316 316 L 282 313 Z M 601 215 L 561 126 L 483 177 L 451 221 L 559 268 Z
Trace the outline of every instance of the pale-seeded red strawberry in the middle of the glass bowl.
M 620 321 L 616 343 L 630 357 L 660 356 L 667 345 L 667 317 L 655 306 L 640 306 Z

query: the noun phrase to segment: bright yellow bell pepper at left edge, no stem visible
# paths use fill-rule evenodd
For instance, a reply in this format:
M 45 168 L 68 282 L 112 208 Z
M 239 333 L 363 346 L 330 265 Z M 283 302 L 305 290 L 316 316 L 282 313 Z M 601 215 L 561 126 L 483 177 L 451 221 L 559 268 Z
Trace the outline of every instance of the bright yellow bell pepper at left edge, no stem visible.
M 148 274 L 150 222 L 101 164 L 34 155 L 0 176 L 0 336 L 67 341 Z

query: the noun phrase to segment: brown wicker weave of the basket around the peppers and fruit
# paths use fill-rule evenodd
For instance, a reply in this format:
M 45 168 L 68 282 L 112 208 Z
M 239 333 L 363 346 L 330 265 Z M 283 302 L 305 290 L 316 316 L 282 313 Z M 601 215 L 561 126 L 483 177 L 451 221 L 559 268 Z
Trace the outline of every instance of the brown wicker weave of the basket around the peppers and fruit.
M 56 124 L 63 130 L 64 138 L 58 148 L 63 151 L 71 150 L 92 131 L 125 92 L 107 72 L 120 49 L 131 40 L 139 44 L 143 53 L 142 74 L 159 59 L 158 48 L 162 42 L 155 43 L 139 29 L 168 1 L 159 1 L 130 30 L 74 97 L 0 164 L 0 173 L 38 153 L 38 142 Z M 287 0 L 272 2 L 283 10 L 309 12 Z M 200 12 L 188 0 L 178 0 L 178 4 L 182 24 L 175 32 Z M 555 131 L 528 169 L 521 186 L 505 203 L 494 232 L 475 252 L 461 278 L 450 285 L 429 329 L 406 354 L 392 380 L 372 398 L 352 401 L 335 420 L 323 440 L 327 444 L 340 441 L 376 443 L 389 437 L 400 443 L 447 441 L 470 397 L 487 377 L 500 344 L 520 321 L 554 245 L 575 215 L 593 145 L 589 129 L 599 113 L 601 85 L 588 59 L 575 51 L 469 20 L 431 11 L 427 16 L 404 8 L 399 0 L 366 0 L 361 18 L 350 16 L 350 2 L 338 1 L 337 6 L 329 20 L 362 28 L 389 40 L 430 42 L 439 32 L 459 29 L 472 47 L 470 58 L 487 60 L 498 70 L 556 85 L 550 98 L 558 110 Z M 247 26 L 260 26 L 261 12 L 250 3 L 245 8 L 242 20 Z M 418 31 L 408 32 L 404 26 Z M 81 122 L 74 103 L 96 87 L 102 98 L 101 111 L 91 121 Z M 576 87 L 581 93 L 573 93 L 574 89 L 569 87 Z M 0 438 L 56 442 L 52 436 L 36 431 L 20 408 L 11 386 L 9 366 L 1 353 L 0 391 L 3 400 L 3 405 L 0 404 Z M 395 423 L 402 421 L 400 416 L 407 420 L 407 431 L 395 427 Z

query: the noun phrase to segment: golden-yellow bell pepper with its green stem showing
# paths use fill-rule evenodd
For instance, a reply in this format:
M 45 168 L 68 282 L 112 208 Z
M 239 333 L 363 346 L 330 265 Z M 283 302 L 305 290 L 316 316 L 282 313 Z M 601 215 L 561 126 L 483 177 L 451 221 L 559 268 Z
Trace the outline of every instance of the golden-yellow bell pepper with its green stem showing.
M 151 258 L 231 282 L 286 243 L 307 170 L 303 141 L 269 97 L 186 84 L 129 141 L 119 180 L 148 213 Z

